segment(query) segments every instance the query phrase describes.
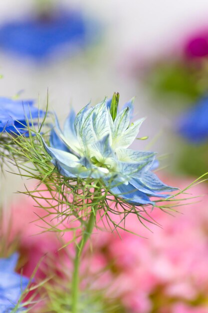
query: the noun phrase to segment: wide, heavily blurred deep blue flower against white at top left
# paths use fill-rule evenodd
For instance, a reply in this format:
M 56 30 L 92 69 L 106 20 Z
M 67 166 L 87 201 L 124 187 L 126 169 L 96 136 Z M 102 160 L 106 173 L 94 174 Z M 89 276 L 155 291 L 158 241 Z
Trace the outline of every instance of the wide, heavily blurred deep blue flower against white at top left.
M 86 21 L 79 11 L 57 10 L 54 14 L 28 16 L 0 26 L 2 49 L 37 60 L 58 49 L 73 51 L 88 43 Z

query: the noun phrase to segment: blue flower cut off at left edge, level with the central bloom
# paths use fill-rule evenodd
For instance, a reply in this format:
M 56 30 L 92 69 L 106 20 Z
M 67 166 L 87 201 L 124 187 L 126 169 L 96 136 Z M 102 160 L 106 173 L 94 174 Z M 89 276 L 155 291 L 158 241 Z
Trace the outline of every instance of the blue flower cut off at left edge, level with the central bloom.
M 32 100 L 14 100 L 0 97 L 0 132 L 25 133 L 26 121 L 43 115 L 43 111 L 33 106 Z

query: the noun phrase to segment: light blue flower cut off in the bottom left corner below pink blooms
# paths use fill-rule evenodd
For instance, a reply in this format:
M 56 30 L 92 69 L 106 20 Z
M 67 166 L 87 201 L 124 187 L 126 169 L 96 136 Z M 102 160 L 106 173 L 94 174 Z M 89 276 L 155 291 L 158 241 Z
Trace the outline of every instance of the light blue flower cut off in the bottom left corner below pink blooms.
M 9 313 L 17 304 L 29 279 L 14 271 L 18 254 L 0 258 L 0 312 Z M 20 310 L 18 310 L 20 311 Z

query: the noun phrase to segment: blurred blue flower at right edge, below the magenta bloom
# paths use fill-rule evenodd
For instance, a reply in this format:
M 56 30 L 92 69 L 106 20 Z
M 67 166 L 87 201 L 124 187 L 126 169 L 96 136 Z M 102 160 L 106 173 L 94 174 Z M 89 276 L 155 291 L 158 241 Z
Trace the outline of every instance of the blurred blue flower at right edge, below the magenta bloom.
M 208 140 L 208 95 L 179 117 L 178 131 L 191 142 Z

